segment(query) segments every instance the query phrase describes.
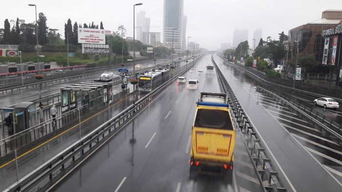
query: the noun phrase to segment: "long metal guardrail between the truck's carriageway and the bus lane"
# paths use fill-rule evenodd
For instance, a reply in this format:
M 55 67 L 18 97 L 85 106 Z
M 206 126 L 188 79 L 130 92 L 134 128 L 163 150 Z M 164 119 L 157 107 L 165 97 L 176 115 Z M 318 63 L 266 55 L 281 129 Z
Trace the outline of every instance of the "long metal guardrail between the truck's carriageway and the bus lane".
M 89 134 L 86 134 L 79 141 L 70 145 L 68 148 L 55 155 L 50 160 L 43 163 L 40 167 L 19 179 L 4 192 L 18 191 L 43 191 L 78 163 L 82 163 L 85 157 L 100 149 L 110 138 L 115 136 L 125 125 L 136 115 L 138 115 L 151 100 L 158 96 L 162 90 L 166 89 L 177 77 L 188 71 L 198 60 L 195 58 L 188 65 L 184 65 L 174 70 L 174 75 L 167 82 L 155 90 L 152 90 L 146 96 L 143 96 L 134 104 L 128 106 L 118 115 L 110 118 L 108 121 L 97 127 Z

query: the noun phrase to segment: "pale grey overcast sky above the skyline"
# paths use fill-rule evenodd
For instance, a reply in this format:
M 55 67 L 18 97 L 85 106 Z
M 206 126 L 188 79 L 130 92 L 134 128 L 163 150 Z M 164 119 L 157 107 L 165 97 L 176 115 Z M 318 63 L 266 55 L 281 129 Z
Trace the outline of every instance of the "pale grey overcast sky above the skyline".
M 60 29 L 64 34 L 64 23 L 68 18 L 72 23 L 100 24 L 107 30 L 117 31 L 123 24 L 129 37 L 133 36 L 133 4 L 136 13 L 146 11 L 150 18 L 150 31 L 162 32 L 163 0 L 2 0 L 0 20 L 20 19 L 32 22 L 34 7 L 43 12 L 50 28 Z M 288 33 L 301 24 L 321 19 L 321 12 L 327 9 L 342 9 L 342 0 L 184 0 L 184 15 L 188 16 L 187 37 L 201 46 L 214 50 L 221 42 L 233 42 L 234 28 L 247 28 L 249 42 L 253 47 L 253 32 L 262 28 L 262 37 L 278 39 L 278 33 Z

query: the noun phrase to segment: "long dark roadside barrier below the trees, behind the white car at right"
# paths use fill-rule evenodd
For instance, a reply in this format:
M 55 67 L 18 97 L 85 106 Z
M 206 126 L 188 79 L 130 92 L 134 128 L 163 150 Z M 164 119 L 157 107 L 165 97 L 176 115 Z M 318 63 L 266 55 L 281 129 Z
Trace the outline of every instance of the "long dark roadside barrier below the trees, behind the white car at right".
M 289 91 L 292 91 L 292 92 L 296 92 L 296 93 L 299 93 L 299 94 L 303 94 L 303 95 L 307 95 L 307 96 L 313 96 L 313 97 L 330 97 L 330 98 L 333 98 L 339 102 L 342 102 L 342 98 L 336 98 L 336 97 L 331 97 L 331 96 L 325 96 L 325 95 L 321 95 L 321 94 L 316 94 L 316 93 L 312 93 L 312 92 L 308 92 L 308 91 L 303 91 L 303 90 L 299 90 L 299 89 L 294 89 L 294 88 L 291 88 L 291 87 L 288 87 L 288 86 L 284 86 L 284 85 L 280 85 L 280 84 L 277 84 L 277 83 L 272 83 L 264 78 L 262 78 L 264 75 L 262 74 L 261 77 L 259 77 L 258 75 L 256 75 L 254 73 L 254 71 L 251 71 L 253 69 L 249 68 L 248 67 L 242 67 L 242 66 L 239 66 L 239 65 L 236 65 L 235 63 L 232 63 L 230 61 L 228 61 L 227 59 L 225 58 L 222 58 L 220 57 L 222 60 L 226 61 L 227 63 L 231 64 L 231 65 L 234 65 L 236 66 L 237 68 L 247 72 L 249 75 L 251 75 L 252 77 L 254 77 L 256 80 L 259 80 L 259 81 L 262 81 L 263 83 L 266 83 L 266 84 L 269 84 L 269 85 L 273 85 L 273 86 L 277 86 L 277 88 L 282 88 L 282 89 L 285 89 L 285 90 L 289 90 Z M 258 71 L 257 71 L 258 72 Z M 258 72 L 258 73 L 261 73 L 261 72 Z

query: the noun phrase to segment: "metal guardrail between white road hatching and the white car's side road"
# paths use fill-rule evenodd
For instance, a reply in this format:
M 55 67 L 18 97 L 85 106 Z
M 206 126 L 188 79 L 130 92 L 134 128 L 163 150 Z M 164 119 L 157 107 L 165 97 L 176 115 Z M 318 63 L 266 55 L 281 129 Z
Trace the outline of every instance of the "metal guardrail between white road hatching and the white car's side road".
M 266 93 L 268 96 L 276 99 L 281 106 L 289 107 L 292 109 L 292 113 L 296 112 L 302 119 L 311 122 L 313 128 L 319 131 L 325 131 L 325 136 L 328 136 L 337 143 L 342 141 L 342 128 L 341 125 L 332 121 L 328 117 L 306 107 L 299 102 L 296 102 L 286 96 L 279 96 L 276 92 L 267 90 L 263 87 L 256 86 L 258 90 Z M 324 134 L 324 133 L 322 133 Z

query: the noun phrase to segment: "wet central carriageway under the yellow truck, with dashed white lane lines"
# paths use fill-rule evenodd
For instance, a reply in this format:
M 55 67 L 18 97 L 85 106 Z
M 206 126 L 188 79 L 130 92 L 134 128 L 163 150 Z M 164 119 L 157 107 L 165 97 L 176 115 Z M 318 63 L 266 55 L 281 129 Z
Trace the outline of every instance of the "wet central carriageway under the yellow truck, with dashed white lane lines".
M 216 74 L 205 73 L 210 63 L 210 56 L 205 56 L 195 65 L 195 73 L 183 75 L 199 80 L 197 90 L 174 82 L 52 191 L 261 191 L 240 134 L 233 178 L 206 174 L 189 178 L 195 102 L 200 92 L 218 92 Z

